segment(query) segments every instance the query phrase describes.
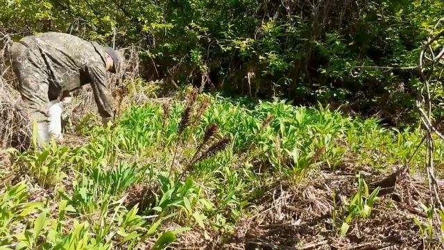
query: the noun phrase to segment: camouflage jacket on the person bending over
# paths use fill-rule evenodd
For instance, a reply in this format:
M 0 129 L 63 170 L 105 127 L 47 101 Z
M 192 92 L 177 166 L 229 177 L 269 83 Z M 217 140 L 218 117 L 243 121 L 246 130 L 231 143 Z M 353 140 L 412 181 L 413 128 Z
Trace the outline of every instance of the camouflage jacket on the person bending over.
M 101 45 L 55 32 L 31 35 L 19 42 L 42 56 L 44 65 L 37 67 L 49 78 L 50 99 L 89 83 L 101 117 L 112 117 L 112 94 Z

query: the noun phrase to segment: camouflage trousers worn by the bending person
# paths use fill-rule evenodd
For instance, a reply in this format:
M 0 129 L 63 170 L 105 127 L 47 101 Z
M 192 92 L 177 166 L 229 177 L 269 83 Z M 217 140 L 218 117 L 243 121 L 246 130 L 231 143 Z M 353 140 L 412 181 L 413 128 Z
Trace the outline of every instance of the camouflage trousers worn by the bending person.
M 49 94 L 49 72 L 44 67 L 43 58 L 24 44 L 15 42 L 10 51 L 12 69 L 18 78 L 17 89 L 26 103 L 31 120 L 37 122 L 40 144 L 46 143 L 49 140 L 48 110 L 58 102 L 56 97 Z

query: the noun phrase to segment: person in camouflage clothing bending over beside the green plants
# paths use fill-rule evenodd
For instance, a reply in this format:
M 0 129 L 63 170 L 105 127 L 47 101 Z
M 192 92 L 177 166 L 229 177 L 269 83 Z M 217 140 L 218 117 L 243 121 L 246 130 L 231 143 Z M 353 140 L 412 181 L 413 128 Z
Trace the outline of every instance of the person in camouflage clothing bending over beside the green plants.
M 66 33 L 31 35 L 11 48 L 12 69 L 18 90 L 37 122 L 37 143 L 62 136 L 62 99 L 90 84 L 102 123 L 112 122 L 112 94 L 107 72 L 119 67 L 118 51 Z

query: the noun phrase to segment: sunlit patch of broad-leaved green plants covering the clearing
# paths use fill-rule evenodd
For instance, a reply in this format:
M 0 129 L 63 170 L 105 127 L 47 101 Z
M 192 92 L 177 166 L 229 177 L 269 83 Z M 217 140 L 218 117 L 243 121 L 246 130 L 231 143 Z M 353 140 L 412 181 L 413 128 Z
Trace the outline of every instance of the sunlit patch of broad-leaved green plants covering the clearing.
M 201 117 L 192 113 L 183 133 L 178 128 L 187 104 L 173 99 L 167 113 L 162 103 L 153 102 L 130 106 L 113 127 L 86 129 L 85 122 L 78 131 L 89 136 L 89 144 L 15 152 L 13 167 L 31 181 L 0 196 L 1 244 L 131 249 L 147 238 L 168 244 L 191 228 L 229 233 L 264 188 L 282 181 L 296 185 L 314 169 L 334 171 L 350 162 L 388 172 L 407 163 L 412 170 L 422 168 L 424 147 L 413 156 L 422 138 L 416 128 L 383 128 L 376 119 L 351 119 L 328 107 L 284 101 L 252 107 L 206 94 L 198 97 L 196 110 L 205 101 L 210 106 Z M 217 126 L 212 143 L 221 138 L 230 143 L 194 163 L 212 124 Z M 443 169 L 443 152 L 443 144 L 436 144 L 438 169 Z M 28 199 L 33 183 L 49 190 L 50 197 L 38 203 Z M 148 206 L 125 206 L 135 185 L 151 188 Z M 181 227 L 165 232 L 166 222 Z M 31 229 L 14 229 L 26 223 Z

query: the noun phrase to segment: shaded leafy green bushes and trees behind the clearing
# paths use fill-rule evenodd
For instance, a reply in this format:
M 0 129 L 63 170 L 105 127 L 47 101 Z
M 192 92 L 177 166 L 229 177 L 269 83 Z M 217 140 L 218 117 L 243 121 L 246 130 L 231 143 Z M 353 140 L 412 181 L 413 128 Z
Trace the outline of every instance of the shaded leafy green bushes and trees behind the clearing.
M 420 43 L 441 0 L 0 0 L 14 38 L 62 31 L 136 44 L 143 77 L 225 94 L 343 105 L 399 125 L 414 119 Z M 114 33 L 115 28 L 115 33 Z M 435 92 L 443 105 L 443 89 Z M 437 109 L 438 117 L 443 109 Z

